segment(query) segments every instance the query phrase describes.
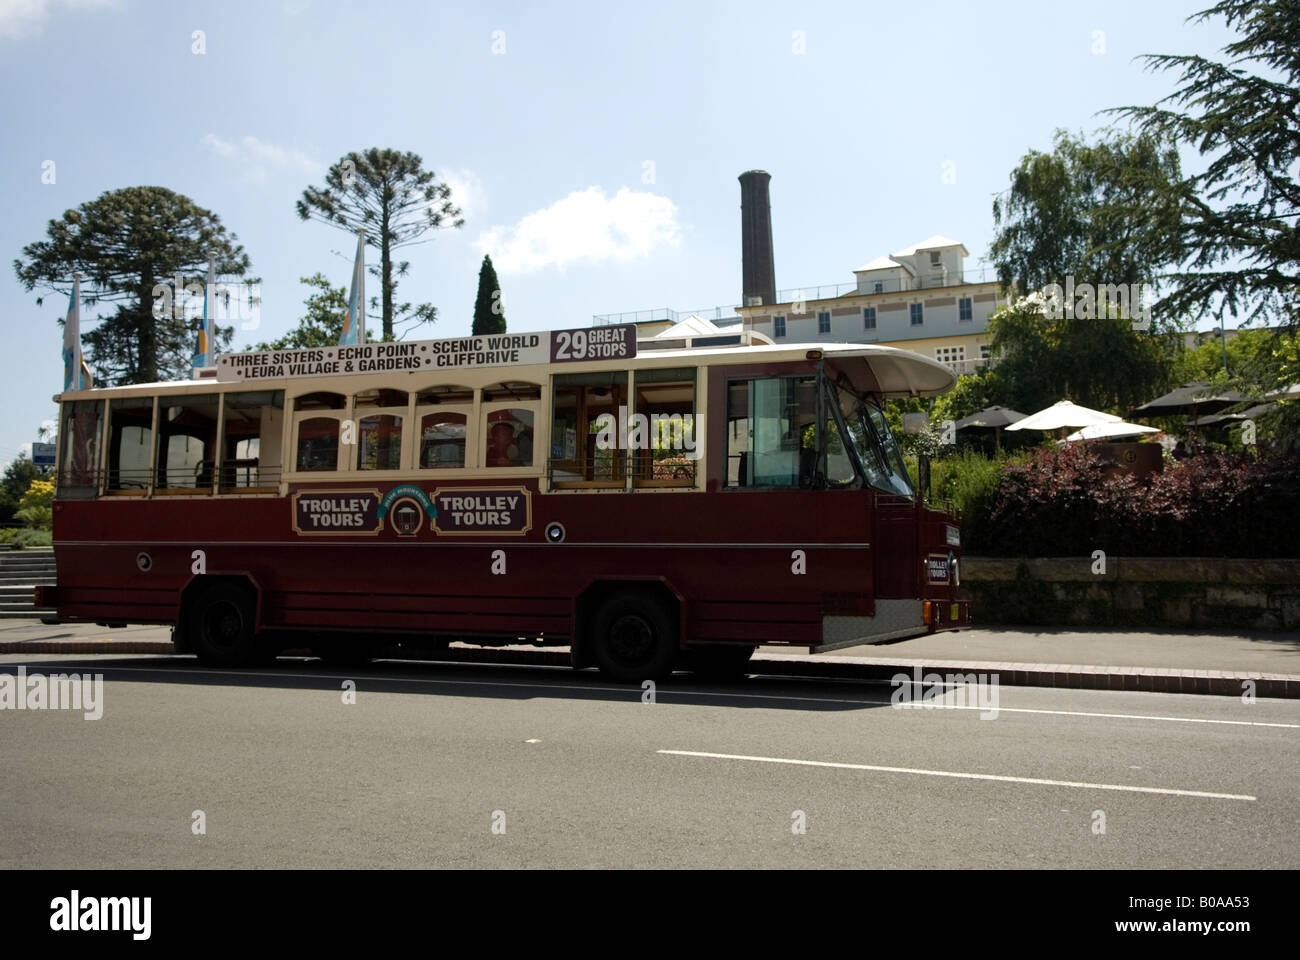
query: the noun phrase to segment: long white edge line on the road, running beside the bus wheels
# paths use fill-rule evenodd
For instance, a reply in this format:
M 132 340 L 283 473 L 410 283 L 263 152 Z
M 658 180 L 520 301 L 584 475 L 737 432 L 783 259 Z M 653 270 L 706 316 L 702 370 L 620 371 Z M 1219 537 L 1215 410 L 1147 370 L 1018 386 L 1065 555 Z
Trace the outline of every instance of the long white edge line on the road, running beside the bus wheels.
M 75 656 L 75 654 L 72 654 Z M 441 661 L 441 662 L 463 662 L 463 661 Z M 14 662 L 13 666 L 18 663 Z M 8 662 L 0 663 L 0 666 L 9 666 Z M 32 666 L 27 663 L 27 666 Z M 471 666 L 530 666 L 528 663 L 471 663 Z M 567 670 L 568 667 L 543 667 L 549 670 Z M 640 697 L 640 688 L 634 687 L 603 687 L 598 684 L 577 684 L 577 683 L 526 683 L 516 680 L 445 680 L 439 678 L 428 676 L 386 676 L 382 674 L 292 674 L 287 671 L 269 673 L 269 671 L 254 671 L 254 670 L 209 670 L 209 669 L 186 669 L 176 670 L 170 667 L 121 667 L 109 666 L 107 670 L 118 671 L 124 674 L 136 673 L 136 674 L 182 674 L 186 676 L 269 676 L 269 678 L 294 678 L 300 676 L 303 679 L 321 679 L 321 680 L 385 680 L 389 683 L 428 683 L 428 684 L 445 684 L 448 687 L 524 687 L 529 689 L 573 689 L 573 691 L 593 691 L 597 693 L 628 693 L 633 697 Z M 1130 691 L 1138 692 L 1138 691 Z M 708 696 L 708 697 L 728 697 L 736 700 L 777 700 L 783 702 L 805 702 L 805 704 L 855 704 L 858 706 L 884 706 L 889 705 L 894 709 L 927 709 L 924 702 L 900 702 L 893 704 L 889 700 L 859 700 L 853 697 L 800 697 L 800 696 L 784 696 L 774 693 L 729 693 L 725 691 L 711 691 L 711 689 L 686 689 L 686 688 L 671 688 L 660 687 L 659 696 L 671 696 L 673 693 L 681 696 Z M 1167 695 L 1158 695 L 1167 696 Z M 640 700 L 638 700 L 640 702 Z M 927 701 L 930 704 L 928 709 L 935 710 L 979 710 L 988 712 L 991 708 L 979 705 L 963 705 L 963 704 L 944 704 L 940 700 Z M 1223 726 L 1234 727 L 1280 727 L 1283 730 L 1300 730 L 1300 723 L 1273 723 L 1268 721 L 1230 721 L 1230 719 L 1212 719 L 1206 717 L 1169 717 L 1161 714 L 1141 714 L 1141 713 L 1095 713 L 1089 710 L 1041 710 L 1027 706 L 998 706 L 998 713 L 1031 713 L 1031 714 L 1044 714 L 1050 717 L 1095 717 L 1098 719 L 1140 719 L 1140 721 L 1165 721 L 1169 723 L 1218 723 Z

